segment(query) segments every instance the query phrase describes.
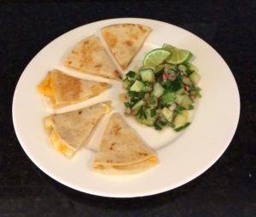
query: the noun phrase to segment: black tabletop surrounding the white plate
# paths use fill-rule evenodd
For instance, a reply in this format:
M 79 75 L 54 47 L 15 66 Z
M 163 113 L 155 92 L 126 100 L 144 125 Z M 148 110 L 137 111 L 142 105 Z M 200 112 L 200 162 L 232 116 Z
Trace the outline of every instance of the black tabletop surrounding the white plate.
M 0 216 L 256 216 L 255 11 L 256 1 L 0 3 Z M 218 162 L 152 197 L 96 197 L 62 186 L 26 156 L 12 123 L 15 85 L 32 57 L 66 31 L 118 17 L 192 31 L 222 55 L 241 94 L 235 137 Z

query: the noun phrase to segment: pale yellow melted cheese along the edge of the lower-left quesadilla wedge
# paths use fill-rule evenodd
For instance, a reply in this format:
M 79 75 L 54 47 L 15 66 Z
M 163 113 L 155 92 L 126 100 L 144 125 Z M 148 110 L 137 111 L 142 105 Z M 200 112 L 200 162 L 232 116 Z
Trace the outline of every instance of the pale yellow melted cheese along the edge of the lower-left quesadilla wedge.
M 52 127 L 52 123 L 49 117 L 46 117 L 44 119 L 44 126 L 45 128 L 51 130 L 50 135 L 49 135 L 49 140 L 52 146 L 55 147 L 58 151 L 60 151 L 62 154 L 64 154 L 67 157 L 73 157 L 73 154 L 75 151 L 68 147 L 66 144 L 61 142 L 58 134 L 56 133 L 55 129 Z

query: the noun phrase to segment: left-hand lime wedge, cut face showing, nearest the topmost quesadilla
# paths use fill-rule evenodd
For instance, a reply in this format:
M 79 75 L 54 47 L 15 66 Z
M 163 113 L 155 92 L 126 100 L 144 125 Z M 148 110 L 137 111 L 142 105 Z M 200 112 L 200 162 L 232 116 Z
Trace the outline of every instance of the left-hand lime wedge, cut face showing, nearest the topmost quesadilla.
M 160 65 L 171 54 L 166 49 L 154 49 L 148 52 L 143 60 L 143 66 L 154 67 Z

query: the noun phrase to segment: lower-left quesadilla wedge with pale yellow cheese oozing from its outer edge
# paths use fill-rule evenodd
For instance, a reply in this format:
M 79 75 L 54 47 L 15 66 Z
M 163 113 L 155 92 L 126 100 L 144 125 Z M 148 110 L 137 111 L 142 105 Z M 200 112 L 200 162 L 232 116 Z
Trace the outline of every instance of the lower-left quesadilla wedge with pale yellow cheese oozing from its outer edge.
M 77 111 L 45 117 L 44 126 L 49 131 L 50 143 L 66 157 L 73 157 L 96 123 L 110 110 L 111 101 L 106 101 Z

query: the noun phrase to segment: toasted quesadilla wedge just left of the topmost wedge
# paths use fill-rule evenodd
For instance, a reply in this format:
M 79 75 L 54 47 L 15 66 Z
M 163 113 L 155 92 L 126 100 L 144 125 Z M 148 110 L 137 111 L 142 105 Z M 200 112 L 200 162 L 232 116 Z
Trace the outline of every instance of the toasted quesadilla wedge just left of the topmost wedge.
M 95 35 L 79 42 L 67 55 L 64 66 L 96 76 L 120 79 L 119 71 Z

